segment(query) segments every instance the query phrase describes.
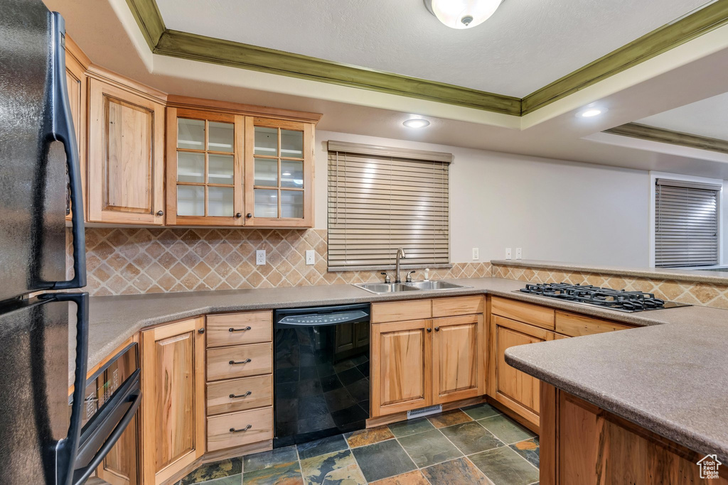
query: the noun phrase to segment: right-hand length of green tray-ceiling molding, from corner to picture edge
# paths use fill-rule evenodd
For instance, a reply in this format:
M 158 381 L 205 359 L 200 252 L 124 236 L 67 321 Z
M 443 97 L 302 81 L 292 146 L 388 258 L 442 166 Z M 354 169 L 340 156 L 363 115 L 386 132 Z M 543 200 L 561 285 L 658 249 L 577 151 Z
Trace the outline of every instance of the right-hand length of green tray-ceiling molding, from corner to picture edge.
M 727 24 L 728 0 L 716 0 L 532 92 L 523 98 L 522 114 L 532 113 Z

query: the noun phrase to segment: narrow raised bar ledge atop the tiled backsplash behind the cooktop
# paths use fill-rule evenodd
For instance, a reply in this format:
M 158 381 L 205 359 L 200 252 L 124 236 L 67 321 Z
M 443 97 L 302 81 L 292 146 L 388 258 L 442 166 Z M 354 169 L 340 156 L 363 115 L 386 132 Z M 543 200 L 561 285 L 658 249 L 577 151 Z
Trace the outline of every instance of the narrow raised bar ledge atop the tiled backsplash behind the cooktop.
M 582 271 L 584 273 L 612 274 L 622 278 L 667 279 L 693 281 L 695 283 L 728 284 L 728 271 L 678 270 L 673 268 L 623 268 L 620 266 L 580 265 L 571 262 L 542 260 L 491 260 L 491 264 L 518 266 L 521 268 L 542 268 L 559 271 Z

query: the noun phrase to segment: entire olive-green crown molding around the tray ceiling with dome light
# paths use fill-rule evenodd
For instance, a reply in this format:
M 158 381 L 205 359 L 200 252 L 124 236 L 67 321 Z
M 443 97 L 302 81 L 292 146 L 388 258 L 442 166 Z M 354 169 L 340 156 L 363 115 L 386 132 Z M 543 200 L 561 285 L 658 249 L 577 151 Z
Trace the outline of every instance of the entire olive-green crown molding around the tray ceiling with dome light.
M 728 0 L 715 0 L 707 7 L 646 33 L 630 44 L 521 99 L 266 47 L 173 31 L 165 27 L 156 0 L 127 0 L 127 4 L 151 52 L 155 54 L 369 89 L 512 116 L 532 113 L 580 89 L 728 24 Z

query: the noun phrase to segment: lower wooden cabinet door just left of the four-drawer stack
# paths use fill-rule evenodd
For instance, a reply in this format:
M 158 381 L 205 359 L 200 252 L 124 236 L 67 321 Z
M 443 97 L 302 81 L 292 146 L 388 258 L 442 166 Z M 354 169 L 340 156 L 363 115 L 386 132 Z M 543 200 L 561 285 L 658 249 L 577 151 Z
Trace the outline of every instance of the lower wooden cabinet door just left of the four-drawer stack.
M 178 480 L 205 453 L 205 318 L 141 334 L 144 485 Z

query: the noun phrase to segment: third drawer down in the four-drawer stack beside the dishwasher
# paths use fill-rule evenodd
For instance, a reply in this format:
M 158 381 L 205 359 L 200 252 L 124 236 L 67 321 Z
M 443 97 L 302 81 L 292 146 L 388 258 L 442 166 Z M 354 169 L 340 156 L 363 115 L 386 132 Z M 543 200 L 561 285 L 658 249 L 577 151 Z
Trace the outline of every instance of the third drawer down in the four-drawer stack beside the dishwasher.
M 272 405 L 273 376 L 270 374 L 207 384 L 208 416 Z

